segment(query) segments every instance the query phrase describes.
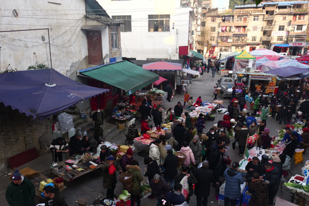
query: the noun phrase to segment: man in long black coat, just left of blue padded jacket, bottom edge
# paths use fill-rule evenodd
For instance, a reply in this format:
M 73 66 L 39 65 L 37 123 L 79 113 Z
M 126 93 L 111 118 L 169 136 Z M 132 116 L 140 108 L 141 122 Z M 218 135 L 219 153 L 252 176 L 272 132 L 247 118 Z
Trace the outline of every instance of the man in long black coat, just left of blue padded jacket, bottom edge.
M 206 206 L 207 198 L 210 193 L 210 183 L 214 181 L 212 171 L 209 170 L 209 163 L 207 160 L 203 161 L 202 167 L 198 168 L 194 176 L 197 179 L 194 194 L 196 195 L 197 206 Z

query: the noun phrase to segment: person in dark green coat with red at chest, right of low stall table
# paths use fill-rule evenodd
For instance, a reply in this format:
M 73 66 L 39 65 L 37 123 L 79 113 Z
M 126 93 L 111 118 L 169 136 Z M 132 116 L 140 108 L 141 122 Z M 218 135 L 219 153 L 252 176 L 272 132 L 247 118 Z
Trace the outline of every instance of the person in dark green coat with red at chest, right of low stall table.
M 112 201 L 115 197 L 114 191 L 117 183 L 116 170 L 119 174 L 122 173 L 122 168 L 114 161 L 113 155 L 110 155 L 102 165 L 103 187 L 107 189 L 106 198 Z

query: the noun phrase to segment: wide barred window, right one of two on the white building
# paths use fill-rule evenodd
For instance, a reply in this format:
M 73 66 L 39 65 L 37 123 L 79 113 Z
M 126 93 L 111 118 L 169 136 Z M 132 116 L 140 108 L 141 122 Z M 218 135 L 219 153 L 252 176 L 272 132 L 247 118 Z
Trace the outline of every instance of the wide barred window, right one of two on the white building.
M 170 14 L 148 15 L 148 32 L 170 32 Z

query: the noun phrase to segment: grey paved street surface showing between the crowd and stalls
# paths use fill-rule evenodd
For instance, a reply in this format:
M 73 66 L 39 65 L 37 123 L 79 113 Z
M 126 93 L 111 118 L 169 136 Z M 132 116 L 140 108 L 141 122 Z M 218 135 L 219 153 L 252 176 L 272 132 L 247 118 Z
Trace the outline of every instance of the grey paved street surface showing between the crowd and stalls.
M 196 78 L 192 80 L 192 84 L 190 84 L 189 87 L 189 93 L 191 96 L 194 97 L 194 101 L 198 97 L 198 95 L 202 96 L 202 100 L 211 102 L 213 99 L 211 97 L 211 93 L 214 91 L 214 85 L 216 84 L 216 81 L 220 78 L 218 73 L 216 73 L 215 78 L 211 78 L 211 73 L 204 73 L 204 76 L 201 78 Z M 222 100 L 222 95 L 218 95 L 218 99 Z M 180 101 L 183 104 L 183 94 L 179 94 L 174 96 L 171 102 L 164 102 L 162 104 L 163 108 L 166 110 L 168 108 L 174 108 L 176 103 Z M 224 100 L 224 106 L 227 107 L 227 100 Z M 249 106 L 248 106 L 249 107 Z M 184 110 L 186 111 L 186 109 Z M 222 119 L 223 115 L 216 113 L 216 120 L 214 122 L 207 121 L 205 126 L 205 132 L 209 130 L 211 126 L 213 126 L 218 120 Z M 273 118 L 268 119 L 268 128 L 271 129 L 271 136 L 277 135 L 278 129 L 284 127 L 284 125 L 279 125 Z M 115 142 L 115 144 L 124 144 L 124 135 L 119 135 L 115 139 L 110 140 L 111 142 Z M 108 138 L 106 140 L 109 140 Z M 229 155 L 231 157 L 232 161 L 239 161 L 240 157 L 238 156 L 238 150 L 235 151 L 230 149 Z M 143 170 L 144 168 L 144 157 L 140 157 L 137 154 L 134 155 L 134 158 L 139 161 L 140 167 Z M 308 154 L 304 155 L 304 159 L 308 159 Z M 42 157 L 39 157 L 38 159 L 27 163 L 25 165 L 22 165 L 20 168 L 25 168 L 26 166 L 30 166 L 34 170 L 38 170 L 39 172 L 43 172 L 46 176 L 49 176 L 49 164 L 52 162 L 51 154 L 43 155 Z M 290 175 L 294 174 L 301 174 L 301 167 L 304 165 L 302 163 L 301 165 L 294 165 L 294 163 L 291 163 L 291 172 Z M 0 177 L 1 181 L 1 187 L 0 187 L 0 201 L 1 205 L 8 205 L 5 201 L 5 190 L 9 183 L 8 177 Z M 117 188 L 115 190 L 115 194 L 119 195 L 122 192 L 122 184 L 117 183 Z M 102 176 L 100 174 L 100 171 L 95 171 L 91 174 L 87 174 L 85 176 L 82 176 L 80 179 L 77 179 L 76 181 L 73 181 L 71 184 L 71 187 L 68 187 L 67 190 L 64 190 L 62 192 L 62 196 L 65 196 L 67 203 L 69 205 L 76 205 L 75 201 L 79 197 L 88 198 L 88 205 L 91 205 L 95 198 L 102 194 L 103 192 L 102 188 Z M 208 203 L 209 205 L 218 205 L 218 201 L 216 201 L 214 194 L 214 188 L 211 187 L 211 196 L 209 196 Z M 282 190 L 279 189 L 279 192 L 277 194 L 281 198 L 284 198 L 287 201 L 290 201 L 290 193 L 288 190 L 286 190 L 285 187 L 282 188 Z M 192 196 L 192 201 L 190 201 L 190 205 L 196 205 L 196 196 Z M 156 200 L 150 200 L 148 198 L 145 198 L 141 201 L 141 205 L 156 205 Z

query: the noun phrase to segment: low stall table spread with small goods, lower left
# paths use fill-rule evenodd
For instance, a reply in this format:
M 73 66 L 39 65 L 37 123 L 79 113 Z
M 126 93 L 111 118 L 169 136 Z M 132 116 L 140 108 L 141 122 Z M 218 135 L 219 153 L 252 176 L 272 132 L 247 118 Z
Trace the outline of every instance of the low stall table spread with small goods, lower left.
M 92 162 L 95 163 L 95 160 L 93 160 Z M 60 167 L 64 167 L 64 168 L 65 168 L 67 165 L 72 165 L 72 164 L 71 164 L 71 163 L 66 163 L 65 161 L 60 161 L 60 162 L 59 162 L 59 168 L 60 168 Z M 55 175 L 58 176 L 58 177 L 62 177 L 63 180 L 65 180 L 65 181 L 67 181 L 67 182 L 69 183 L 70 181 L 73 181 L 74 179 L 78 179 L 80 176 L 83 176 L 83 175 L 85 175 L 85 174 L 88 174 L 88 173 L 90 173 L 90 172 L 93 172 L 93 171 L 95 171 L 95 170 L 98 170 L 98 169 L 102 168 L 102 163 L 98 164 L 98 165 L 96 166 L 96 168 L 94 168 L 94 169 L 90 169 L 90 168 L 89 168 L 90 165 L 92 165 L 92 164 L 89 163 L 89 162 L 86 162 L 86 163 L 80 163 L 80 162 L 78 162 L 78 163 L 76 164 L 76 166 L 77 166 L 77 168 L 82 169 L 82 171 L 78 171 L 77 169 L 71 167 L 71 168 L 73 168 L 71 171 L 74 172 L 74 173 L 76 174 L 75 176 L 73 176 L 73 175 L 72 175 L 70 172 L 68 172 L 67 170 L 66 170 L 65 172 L 63 172 L 63 170 L 58 170 L 58 171 L 56 171 L 54 168 L 52 168 L 52 169 L 51 169 L 51 172 L 52 172 L 52 174 L 55 174 Z M 68 175 L 71 175 L 72 177 L 69 177 Z

